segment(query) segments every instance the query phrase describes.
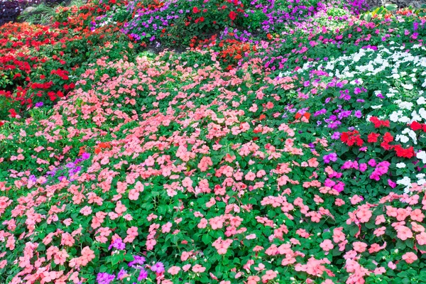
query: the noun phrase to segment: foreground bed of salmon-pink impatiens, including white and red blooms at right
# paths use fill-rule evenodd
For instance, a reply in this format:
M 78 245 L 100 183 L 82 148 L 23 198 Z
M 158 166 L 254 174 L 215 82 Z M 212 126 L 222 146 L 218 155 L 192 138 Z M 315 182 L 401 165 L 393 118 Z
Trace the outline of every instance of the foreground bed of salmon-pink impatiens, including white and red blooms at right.
M 425 283 L 425 48 L 400 35 L 280 76 L 99 59 L 0 131 L 0 282 Z

